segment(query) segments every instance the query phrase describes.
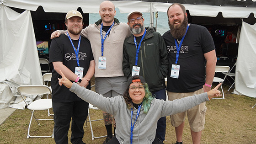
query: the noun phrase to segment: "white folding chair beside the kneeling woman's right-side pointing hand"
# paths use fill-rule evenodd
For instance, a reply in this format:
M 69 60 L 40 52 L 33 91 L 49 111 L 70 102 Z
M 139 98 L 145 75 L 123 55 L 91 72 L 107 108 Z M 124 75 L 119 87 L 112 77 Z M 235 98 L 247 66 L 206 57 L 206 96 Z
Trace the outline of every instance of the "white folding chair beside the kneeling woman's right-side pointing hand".
M 222 85 L 223 85 L 224 80 L 225 80 L 226 77 L 227 77 L 227 73 L 229 72 L 229 69 L 230 69 L 229 66 L 220 66 L 220 65 L 216 65 L 216 67 L 215 67 L 215 74 L 216 74 L 216 73 L 224 73 L 224 72 L 226 72 L 226 74 L 225 74 L 224 78 L 220 78 L 220 77 L 215 77 L 215 76 L 214 76 L 213 82 L 222 83 L 222 84 L 220 85 L 221 91 L 222 91 L 222 98 L 214 97 L 213 99 L 225 99 L 225 97 L 224 97 L 224 91 L 223 91 Z

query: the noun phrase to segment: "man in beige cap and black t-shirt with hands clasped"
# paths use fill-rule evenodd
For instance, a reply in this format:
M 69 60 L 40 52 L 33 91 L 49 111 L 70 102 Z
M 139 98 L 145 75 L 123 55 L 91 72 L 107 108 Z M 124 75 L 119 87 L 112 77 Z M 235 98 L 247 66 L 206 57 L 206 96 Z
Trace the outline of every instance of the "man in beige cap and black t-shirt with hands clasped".
M 83 16 L 79 11 L 69 11 L 65 24 L 68 31 L 51 42 L 49 60 L 53 63 L 52 101 L 54 112 L 54 140 L 56 144 L 68 144 L 70 119 L 71 143 L 85 144 L 84 123 L 88 114 L 88 103 L 81 100 L 64 85 L 59 85 L 60 71 L 70 80 L 90 89 L 90 79 L 94 75 L 95 61 L 91 43 L 80 36 L 83 29 Z

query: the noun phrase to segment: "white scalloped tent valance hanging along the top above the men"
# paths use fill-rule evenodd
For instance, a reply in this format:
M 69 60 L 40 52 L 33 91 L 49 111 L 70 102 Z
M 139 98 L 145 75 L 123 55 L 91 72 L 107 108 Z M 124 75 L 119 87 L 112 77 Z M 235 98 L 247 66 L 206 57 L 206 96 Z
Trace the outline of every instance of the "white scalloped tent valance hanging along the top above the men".
M 1 0 L 3 5 L 24 10 L 36 11 L 42 6 L 45 12 L 68 12 L 78 7 L 84 13 L 98 13 L 102 0 Z M 218 0 L 216 0 L 218 1 Z M 166 12 L 172 3 L 146 2 L 140 0 L 114 0 L 112 1 L 121 13 L 139 10 L 141 12 Z M 242 3 L 241 3 L 242 4 Z M 216 17 L 222 12 L 224 18 L 247 18 L 251 13 L 256 17 L 255 7 L 235 7 L 216 5 L 190 5 L 184 4 L 191 16 Z

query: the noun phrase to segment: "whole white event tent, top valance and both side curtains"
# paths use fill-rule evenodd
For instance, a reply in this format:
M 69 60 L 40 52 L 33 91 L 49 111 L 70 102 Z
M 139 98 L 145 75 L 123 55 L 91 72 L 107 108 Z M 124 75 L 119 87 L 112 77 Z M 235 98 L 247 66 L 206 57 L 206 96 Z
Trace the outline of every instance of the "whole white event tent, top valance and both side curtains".
M 141 12 L 155 12 L 162 11 L 166 12 L 167 8 L 171 5 L 167 0 L 160 0 L 165 2 L 149 2 L 154 0 L 115 0 L 112 1 L 115 6 L 119 9 L 121 13 L 128 13 L 133 10 L 140 10 Z M 155 0 L 159 1 L 159 0 Z M 173 0 L 170 2 L 176 2 Z M 180 0 L 179 2 L 188 3 L 184 4 L 186 9 L 190 12 L 191 16 L 208 16 L 215 17 L 222 13 L 224 18 L 247 18 L 251 13 L 256 17 L 256 2 L 255 0 L 247 1 L 233 1 L 225 0 L 224 2 L 232 3 L 245 3 L 246 6 L 235 6 L 235 5 L 203 5 L 203 0 L 196 0 L 201 3 L 192 4 L 191 1 Z M 210 2 L 219 2 L 219 0 L 211 0 Z M 0 0 L 0 82 L 12 81 L 13 85 L 21 84 L 41 84 L 41 72 L 40 65 L 38 62 L 35 36 L 32 27 L 32 18 L 30 11 L 36 11 L 38 6 L 42 6 L 45 12 L 68 12 L 71 9 L 77 9 L 80 7 L 84 13 L 98 13 L 99 5 L 102 0 Z M 205 2 L 209 2 L 208 0 Z M 247 6 L 247 3 L 251 5 Z M 29 11 L 24 11 L 22 14 L 11 11 L 8 7 L 14 7 Z M 151 16 L 151 25 L 153 25 L 153 20 Z M 21 21 L 22 20 L 22 21 Z M 21 25 L 21 26 L 18 26 Z M 243 24 L 245 25 L 245 24 Z M 20 29 L 19 29 L 20 27 Z M 22 27 L 22 28 L 21 28 Z M 247 32 L 248 27 L 245 27 L 245 32 Z M 5 33 L 4 33 L 5 32 Z M 240 36 L 240 39 L 244 36 Z M 28 40 L 29 39 L 29 40 Z M 255 42 L 255 37 L 250 37 L 250 43 Z M 240 41 L 241 42 L 241 41 Z M 240 51 L 245 48 L 242 43 L 239 45 Z M 253 48 L 252 48 L 253 49 Z M 240 56 L 239 51 L 239 56 Z M 19 54 L 21 53 L 21 54 Z M 256 54 L 255 50 L 248 53 Z M 19 56 L 19 58 L 17 58 Z M 8 59 L 7 59 L 8 58 Z M 23 58 L 23 59 L 22 59 Z M 246 59 L 251 59 L 252 57 L 247 57 Z M 238 61 L 240 59 L 238 58 Z M 250 60 L 249 60 L 250 61 Z M 246 61 L 248 62 L 248 61 Z M 248 64 L 248 63 L 247 63 Z M 246 65 L 247 65 L 246 64 Z M 255 65 L 255 64 L 254 64 Z M 248 66 L 250 69 L 254 69 L 255 66 Z M 239 62 L 236 71 L 240 71 Z M 246 69 L 245 69 L 246 71 Z M 249 71 L 249 70 L 248 70 Z M 240 73 L 243 75 L 242 73 Z M 256 81 L 256 75 L 251 73 L 251 80 Z M 239 76 L 238 76 L 239 77 Z M 256 91 L 246 93 L 246 89 L 251 90 L 256 89 L 255 82 L 248 85 L 247 80 L 242 77 L 243 80 L 236 78 L 235 86 L 237 91 L 246 96 L 256 96 Z M 242 81 L 242 83 L 240 83 Z M 6 104 L 11 101 L 12 98 L 5 98 L 7 96 L 4 94 L 7 91 L 6 85 L 0 85 L 0 108 L 1 104 Z M 11 87 L 11 86 L 10 86 Z M 238 87 L 243 88 L 243 91 L 238 89 Z M 15 90 L 14 90 L 15 91 Z M 11 90 L 9 88 L 10 93 Z M 14 93 L 14 92 L 12 92 Z M 5 95 L 5 96 L 3 96 Z M 8 100 L 6 100 L 8 99 Z M 2 102 L 2 103 L 1 103 Z

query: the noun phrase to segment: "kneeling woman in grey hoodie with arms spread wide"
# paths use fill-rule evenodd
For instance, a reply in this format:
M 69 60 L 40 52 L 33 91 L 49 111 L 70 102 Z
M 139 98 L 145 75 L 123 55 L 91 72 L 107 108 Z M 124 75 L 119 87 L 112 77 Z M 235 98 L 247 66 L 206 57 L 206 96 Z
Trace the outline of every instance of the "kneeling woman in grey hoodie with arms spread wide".
M 184 112 L 215 96 L 221 96 L 217 85 L 207 93 L 184 97 L 174 101 L 155 99 L 149 92 L 149 86 L 142 76 L 134 75 L 128 79 L 128 86 L 123 96 L 104 97 L 85 87 L 71 83 L 61 73 L 59 85 L 70 88 L 84 101 L 91 103 L 116 120 L 116 137 L 109 144 L 163 144 L 155 139 L 157 121 L 160 117 Z

